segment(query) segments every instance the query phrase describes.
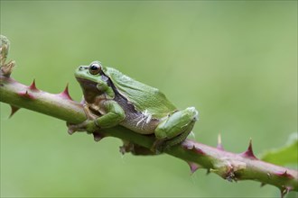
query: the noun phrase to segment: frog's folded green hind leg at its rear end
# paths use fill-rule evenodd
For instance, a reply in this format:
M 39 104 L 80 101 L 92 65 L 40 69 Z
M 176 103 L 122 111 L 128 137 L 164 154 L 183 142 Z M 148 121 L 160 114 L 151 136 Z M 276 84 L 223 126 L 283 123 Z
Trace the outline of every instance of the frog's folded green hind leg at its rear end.
M 156 141 L 154 151 L 163 151 L 181 143 L 190 134 L 199 112 L 194 107 L 172 113 L 154 130 Z

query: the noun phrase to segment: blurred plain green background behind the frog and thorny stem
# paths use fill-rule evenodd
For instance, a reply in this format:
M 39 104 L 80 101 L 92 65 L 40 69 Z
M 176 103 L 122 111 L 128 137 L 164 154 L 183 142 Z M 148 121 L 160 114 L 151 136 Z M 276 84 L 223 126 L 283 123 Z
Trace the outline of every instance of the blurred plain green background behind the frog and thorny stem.
M 297 131 L 296 1 L 2 1 L 13 77 L 44 91 L 81 91 L 73 73 L 100 60 L 195 106 L 202 143 L 260 154 Z M 1 105 L 1 196 L 277 197 L 180 159 L 121 156 L 119 139 L 68 135 L 63 121 Z M 293 166 L 296 167 L 296 166 Z M 296 167 L 297 168 L 297 167 Z M 295 196 L 297 193 L 291 193 Z

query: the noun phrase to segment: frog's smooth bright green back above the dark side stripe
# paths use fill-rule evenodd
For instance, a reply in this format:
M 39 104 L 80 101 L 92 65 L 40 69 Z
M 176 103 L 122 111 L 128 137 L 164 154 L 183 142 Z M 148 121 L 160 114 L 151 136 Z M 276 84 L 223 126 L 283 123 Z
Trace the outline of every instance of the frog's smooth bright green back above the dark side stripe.
M 112 67 L 103 67 L 105 75 L 111 78 L 118 92 L 126 97 L 128 102 L 134 103 L 139 112 L 149 112 L 154 117 L 163 117 L 173 112 L 176 107 L 157 88 L 144 85 L 126 76 Z

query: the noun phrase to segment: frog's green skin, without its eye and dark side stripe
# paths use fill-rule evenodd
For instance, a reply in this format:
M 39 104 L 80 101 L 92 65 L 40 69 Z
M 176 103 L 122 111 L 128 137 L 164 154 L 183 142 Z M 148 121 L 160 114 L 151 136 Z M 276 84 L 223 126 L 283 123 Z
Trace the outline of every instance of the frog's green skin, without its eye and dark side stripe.
M 98 64 L 103 73 L 92 75 L 89 67 L 93 64 Z M 155 146 L 163 141 L 166 141 L 166 146 L 172 146 L 186 139 L 198 119 L 198 112 L 194 107 L 177 111 L 176 107 L 158 89 L 135 81 L 115 68 L 104 67 L 98 61 L 92 62 L 89 66 L 78 67 L 75 76 L 83 89 L 85 100 L 88 99 L 85 101 L 88 118 L 92 118 L 88 107 L 93 106 L 93 110 L 98 107 L 97 110 L 101 113 L 101 116 L 89 119 L 94 121 L 85 121 L 80 124 L 79 129 L 84 128 L 88 132 L 94 132 L 98 130 L 98 127 L 110 128 L 120 124 L 138 133 L 154 133 L 157 139 Z M 114 89 L 111 85 L 107 85 L 107 77 L 103 76 L 108 77 Z M 84 81 L 79 79 L 84 79 Z M 92 83 L 96 85 L 98 94 L 94 91 L 90 93 L 88 86 Z M 149 130 L 144 130 L 141 124 L 135 124 L 135 119 L 126 119 L 126 115 L 130 112 L 123 109 L 123 104 L 121 106 L 116 102 L 115 89 L 126 98 L 127 103 L 134 105 L 136 112 L 142 113 L 140 121 L 146 120 L 148 126 L 152 124 Z M 94 98 L 100 98 L 100 100 Z

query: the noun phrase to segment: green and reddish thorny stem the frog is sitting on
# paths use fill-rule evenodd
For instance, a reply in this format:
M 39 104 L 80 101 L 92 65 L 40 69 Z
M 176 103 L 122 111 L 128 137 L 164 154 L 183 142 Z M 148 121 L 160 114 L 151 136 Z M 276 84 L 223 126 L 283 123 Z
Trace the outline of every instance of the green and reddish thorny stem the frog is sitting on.
M 11 62 L 3 63 L 0 69 L 0 102 L 12 106 L 11 115 L 19 108 L 25 108 L 70 123 L 86 120 L 82 105 L 70 98 L 68 87 L 61 94 L 49 94 L 37 89 L 34 81 L 29 86 L 20 84 L 10 77 L 13 66 L 9 64 Z M 154 137 L 141 135 L 121 126 L 100 130 L 100 133 L 126 139 L 144 148 L 152 148 L 154 143 Z M 272 184 L 281 190 L 282 197 L 290 191 L 298 191 L 298 172 L 257 159 L 251 141 L 247 150 L 240 154 L 224 150 L 220 139 L 217 148 L 185 139 L 182 144 L 165 150 L 165 153 L 185 160 L 192 173 L 198 168 L 206 168 L 229 182 L 254 180 L 262 185 Z

